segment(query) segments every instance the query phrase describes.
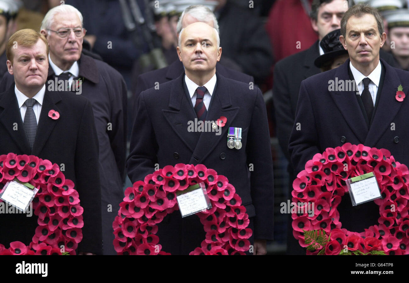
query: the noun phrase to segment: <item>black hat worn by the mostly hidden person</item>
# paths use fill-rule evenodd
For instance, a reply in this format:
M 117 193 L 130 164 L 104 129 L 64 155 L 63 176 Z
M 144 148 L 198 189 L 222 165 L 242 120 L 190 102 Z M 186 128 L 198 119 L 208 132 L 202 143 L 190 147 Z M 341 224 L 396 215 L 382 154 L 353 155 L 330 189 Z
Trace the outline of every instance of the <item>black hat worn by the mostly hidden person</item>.
M 322 65 L 331 59 L 336 58 L 339 55 L 348 54 L 348 51 L 344 49 L 344 46 L 342 46 L 342 43 L 339 41 L 339 35 L 341 35 L 341 30 L 336 29 L 324 36 L 319 43 L 322 50 L 324 50 L 324 54 L 315 59 L 315 66 L 321 68 Z

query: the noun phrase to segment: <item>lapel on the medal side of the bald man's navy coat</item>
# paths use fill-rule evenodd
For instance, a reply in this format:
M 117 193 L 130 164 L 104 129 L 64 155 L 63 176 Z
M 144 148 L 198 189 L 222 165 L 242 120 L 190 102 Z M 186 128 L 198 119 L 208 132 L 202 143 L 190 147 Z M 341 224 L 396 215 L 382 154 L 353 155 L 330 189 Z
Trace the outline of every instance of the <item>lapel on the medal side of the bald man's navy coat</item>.
M 239 107 L 231 107 L 231 93 L 225 77 L 222 77 L 216 72 L 217 88 L 213 92 L 211 105 L 206 115 L 206 121 L 216 122 L 220 116 L 225 116 L 227 122 L 225 126 L 221 127 L 220 135 L 216 135 L 216 132 L 202 132 L 196 148 L 193 152 L 189 164 L 201 163 L 215 148 L 220 139 L 226 139 L 227 143 L 227 130 L 229 126 L 240 127 L 240 125 L 232 125 L 234 117 L 236 117 Z M 212 95 L 212 96 L 213 96 Z

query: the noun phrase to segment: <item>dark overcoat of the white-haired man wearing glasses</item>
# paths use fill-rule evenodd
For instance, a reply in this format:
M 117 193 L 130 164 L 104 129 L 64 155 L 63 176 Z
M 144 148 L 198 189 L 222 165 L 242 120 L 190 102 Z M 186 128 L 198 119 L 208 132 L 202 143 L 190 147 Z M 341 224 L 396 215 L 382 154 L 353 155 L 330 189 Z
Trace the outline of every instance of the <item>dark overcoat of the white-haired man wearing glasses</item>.
M 126 158 L 126 85 L 121 74 L 105 62 L 81 54 L 78 64 L 79 77 L 83 78 L 81 96 L 91 102 L 99 141 L 104 254 L 116 254 L 112 245 L 112 222 L 115 212 L 119 210 L 119 203 L 124 198 L 122 184 Z M 54 81 L 55 77 L 50 65 L 48 80 Z M 0 91 L 8 89 L 13 82 L 13 75 L 7 72 L 0 84 Z M 108 205 L 112 206 L 112 211 L 108 211 Z

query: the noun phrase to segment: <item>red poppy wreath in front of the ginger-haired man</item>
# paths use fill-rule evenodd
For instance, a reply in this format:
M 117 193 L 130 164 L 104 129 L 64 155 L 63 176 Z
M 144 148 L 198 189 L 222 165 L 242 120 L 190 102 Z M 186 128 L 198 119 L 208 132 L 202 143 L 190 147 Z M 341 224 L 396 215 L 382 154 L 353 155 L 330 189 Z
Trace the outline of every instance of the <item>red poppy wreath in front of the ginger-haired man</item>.
M 62 254 L 61 245 L 65 254 L 75 254 L 82 240 L 84 222 L 74 182 L 65 179 L 58 164 L 49 160 L 34 155 L 0 155 L 0 191 L 15 178 L 38 188 L 32 201 L 38 227 L 28 246 L 15 241 L 6 249 L 0 244 L 0 255 Z

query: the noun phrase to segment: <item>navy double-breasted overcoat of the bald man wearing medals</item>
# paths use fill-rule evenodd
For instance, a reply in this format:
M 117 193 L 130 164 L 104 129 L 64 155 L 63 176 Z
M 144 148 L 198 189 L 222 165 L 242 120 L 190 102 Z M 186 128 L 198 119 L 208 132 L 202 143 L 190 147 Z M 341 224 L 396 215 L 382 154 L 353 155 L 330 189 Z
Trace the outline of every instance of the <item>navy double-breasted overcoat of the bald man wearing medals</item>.
M 254 238 L 272 239 L 273 166 L 263 96 L 258 88 L 249 90 L 246 83 L 218 72 L 216 76 L 206 120 L 227 117 L 221 135 L 188 132 L 187 123 L 195 120 L 196 113 L 184 91 L 184 74 L 161 84 L 159 90 L 151 88 L 139 95 L 126 163 L 128 176 L 132 182 L 143 180 L 156 163 L 160 168 L 178 163 L 204 164 L 229 179 L 249 217 L 255 216 Z M 243 129 L 240 150 L 227 147 L 231 126 Z M 254 165 L 254 171 L 249 172 L 249 164 Z

